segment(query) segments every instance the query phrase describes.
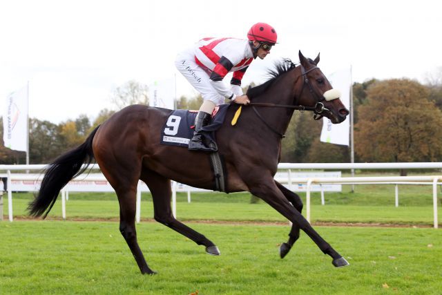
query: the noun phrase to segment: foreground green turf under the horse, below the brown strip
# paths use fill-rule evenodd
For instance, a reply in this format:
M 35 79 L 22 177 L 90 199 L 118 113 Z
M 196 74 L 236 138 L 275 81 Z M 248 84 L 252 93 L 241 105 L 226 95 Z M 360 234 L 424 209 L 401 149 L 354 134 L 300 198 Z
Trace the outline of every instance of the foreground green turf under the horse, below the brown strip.
M 285 259 L 288 227 L 205 225 L 221 256 L 155 222 L 137 225 L 142 276 L 117 222 L 0 222 L 1 294 L 440 294 L 442 235 L 435 229 L 317 227 L 351 265 L 302 234 Z

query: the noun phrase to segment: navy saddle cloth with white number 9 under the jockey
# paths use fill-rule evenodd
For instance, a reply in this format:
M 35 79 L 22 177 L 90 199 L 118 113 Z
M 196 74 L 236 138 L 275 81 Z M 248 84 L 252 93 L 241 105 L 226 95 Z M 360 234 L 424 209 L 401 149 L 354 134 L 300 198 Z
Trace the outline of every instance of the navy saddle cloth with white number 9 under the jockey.
M 222 104 L 217 107 L 218 111 L 214 111 L 211 123 L 202 128 L 202 133 L 208 140 L 215 142 L 214 132 L 220 129 L 224 122 L 228 107 L 229 104 Z M 188 147 L 189 141 L 193 137 L 192 127 L 195 124 L 196 115 L 197 113 L 188 110 L 173 111 L 161 129 L 161 144 Z

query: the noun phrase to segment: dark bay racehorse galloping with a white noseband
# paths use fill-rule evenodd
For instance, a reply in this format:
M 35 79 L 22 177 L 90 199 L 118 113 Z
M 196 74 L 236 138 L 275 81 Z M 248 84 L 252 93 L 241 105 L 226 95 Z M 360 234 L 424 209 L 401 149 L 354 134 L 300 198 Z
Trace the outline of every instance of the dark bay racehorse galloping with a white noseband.
M 265 200 L 293 222 L 289 240 L 282 243 L 283 258 L 299 238 L 300 229 L 333 258 L 333 265 L 348 265 L 301 215 L 300 197 L 276 182 L 282 134 L 287 130 L 295 109 L 314 111 L 334 124 L 345 120 L 349 111 L 334 93 L 315 60 L 299 53 L 300 65 L 286 60 L 273 77 L 248 95 L 252 104 L 242 107 L 238 123 L 231 125 L 238 105 L 227 110 L 224 124 L 216 138 L 219 153 L 225 159 L 227 192 L 249 191 Z M 132 251 L 142 274 L 154 274 L 137 242 L 135 231 L 135 194 L 139 180 L 151 191 L 154 218 L 178 233 L 206 247 L 206 253 L 219 255 L 218 247 L 202 234 L 176 220 L 171 211 L 171 180 L 192 187 L 214 189 L 209 155 L 188 151 L 180 146 L 160 144 L 160 130 L 171 110 L 134 105 L 123 108 L 97 127 L 76 149 L 59 156 L 48 165 L 40 190 L 30 205 L 32 216 L 48 214 L 59 191 L 86 165 L 95 159 L 102 173 L 117 193 L 119 230 Z

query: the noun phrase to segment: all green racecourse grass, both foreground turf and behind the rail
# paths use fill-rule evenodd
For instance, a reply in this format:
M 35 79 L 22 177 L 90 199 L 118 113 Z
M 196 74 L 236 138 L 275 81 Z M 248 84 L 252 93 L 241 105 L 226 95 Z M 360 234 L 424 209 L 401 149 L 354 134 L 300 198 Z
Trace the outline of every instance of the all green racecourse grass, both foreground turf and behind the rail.
M 300 194 L 305 202 L 305 194 Z M 141 276 L 118 231 L 114 193 L 70 193 L 68 220 L 19 220 L 26 217 L 30 193 L 14 193 L 15 222 L 0 222 L 0 294 L 440 294 L 442 235 L 432 226 L 431 186 L 349 186 L 341 193 L 313 193 L 313 222 L 403 224 L 407 228 L 315 227 L 351 265 L 332 259 L 301 234 L 291 253 L 278 256 L 288 225 L 204 224 L 191 220 L 285 222 L 249 193 L 185 193 L 177 196 L 177 217 L 213 240 L 219 257 L 195 245 L 153 217 L 151 196 L 142 196 L 143 222 L 138 240 L 148 264 L 159 272 Z M 7 219 L 8 199 L 3 197 Z M 439 200 L 439 224 L 441 225 Z M 304 212 L 305 213 L 305 210 Z M 61 218 L 57 200 L 50 218 Z M 106 221 L 115 220 L 115 221 Z

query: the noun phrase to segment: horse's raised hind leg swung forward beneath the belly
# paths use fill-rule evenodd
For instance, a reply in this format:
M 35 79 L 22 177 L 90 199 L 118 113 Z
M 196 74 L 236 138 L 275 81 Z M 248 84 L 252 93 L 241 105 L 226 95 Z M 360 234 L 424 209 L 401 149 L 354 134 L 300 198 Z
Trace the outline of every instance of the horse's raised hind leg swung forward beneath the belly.
M 174 231 L 190 238 L 198 245 L 206 246 L 206 253 L 211 255 L 220 255 L 218 247 L 208 238 L 187 227 L 182 222 L 173 217 L 171 209 L 171 181 L 153 171 L 143 171 L 141 180 L 146 182 L 152 193 L 154 218 L 157 222 L 170 227 Z

